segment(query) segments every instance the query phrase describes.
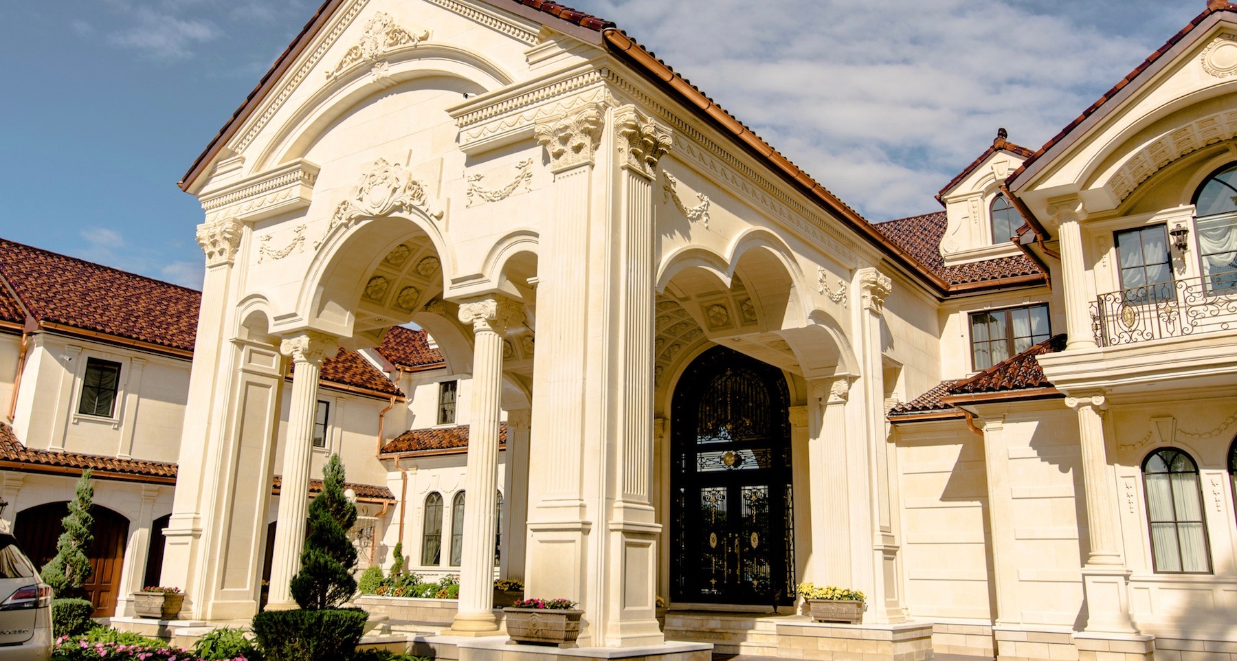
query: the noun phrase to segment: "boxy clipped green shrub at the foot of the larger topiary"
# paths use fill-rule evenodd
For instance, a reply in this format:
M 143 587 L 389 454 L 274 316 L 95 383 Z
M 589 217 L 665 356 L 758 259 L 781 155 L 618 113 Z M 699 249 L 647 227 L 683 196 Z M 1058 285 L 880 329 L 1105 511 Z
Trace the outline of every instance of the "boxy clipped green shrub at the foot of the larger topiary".
M 266 610 L 254 615 L 254 636 L 268 661 L 350 659 L 369 614 L 359 608 Z

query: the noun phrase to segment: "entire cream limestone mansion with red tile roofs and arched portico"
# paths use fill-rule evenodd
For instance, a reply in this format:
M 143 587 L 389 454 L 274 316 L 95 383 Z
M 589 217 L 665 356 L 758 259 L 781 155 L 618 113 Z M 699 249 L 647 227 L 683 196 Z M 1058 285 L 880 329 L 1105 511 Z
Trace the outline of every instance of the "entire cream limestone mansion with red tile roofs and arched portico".
M 0 243 L 4 516 L 93 465 L 106 608 L 245 618 L 336 451 L 362 561 L 459 573 L 448 635 L 501 576 L 647 656 L 1237 657 L 1235 90 L 1213 0 L 875 223 L 614 24 L 327 0 L 181 183 L 200 295 Z

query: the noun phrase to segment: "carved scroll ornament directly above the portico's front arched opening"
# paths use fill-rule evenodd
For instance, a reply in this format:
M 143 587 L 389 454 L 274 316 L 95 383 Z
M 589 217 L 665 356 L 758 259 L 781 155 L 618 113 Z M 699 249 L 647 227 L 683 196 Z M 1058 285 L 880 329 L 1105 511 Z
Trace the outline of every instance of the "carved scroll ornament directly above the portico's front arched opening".
M 327 231 L 314 241 L 318 250 L 340 227 L 349 228 L 364 218 L 377 218 L 396 212 L 421 212 L 432 218 L 442 219 L 443 212 L 437 209 L 426 193 L 426 184 L 400 163 L 388 163 L 379 158 L 361 176 L 360 183 L 353 188 L 348 199 L 335 207 Z

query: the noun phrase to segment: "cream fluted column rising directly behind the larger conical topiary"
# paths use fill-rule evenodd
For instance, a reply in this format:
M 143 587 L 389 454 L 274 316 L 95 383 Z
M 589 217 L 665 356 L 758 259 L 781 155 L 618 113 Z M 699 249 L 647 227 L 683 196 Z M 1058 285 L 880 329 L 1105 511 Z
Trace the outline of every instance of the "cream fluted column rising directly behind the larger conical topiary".
M 280 344 L 280 352 L 292 358 L 293 371 L 278 525 L 275 527 L 275 555 L 271 561 L 271 592 L 266 607 L 270 610 L 296 607 L 288 587 L 292 577 L 301 571 L 301 551 L 306 541 L 318 375 L 322 373 L 323 360 L 334 356 L 338 350 L 339 338 L 314 330 L 285 338 Z

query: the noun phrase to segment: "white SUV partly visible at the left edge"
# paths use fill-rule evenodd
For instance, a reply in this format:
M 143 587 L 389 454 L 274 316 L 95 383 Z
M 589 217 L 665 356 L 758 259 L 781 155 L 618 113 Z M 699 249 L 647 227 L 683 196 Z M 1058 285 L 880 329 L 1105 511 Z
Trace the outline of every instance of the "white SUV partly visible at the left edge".
M 12 535 L 0 534 L 0 661 L 52 656 L 52 588 Z

